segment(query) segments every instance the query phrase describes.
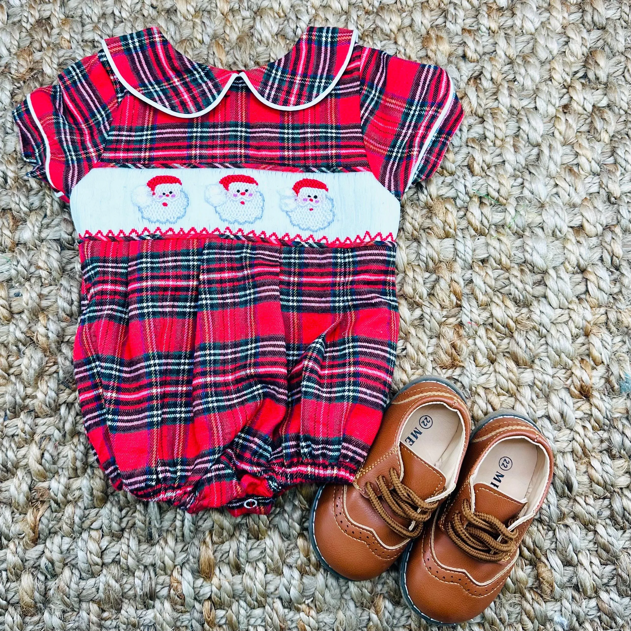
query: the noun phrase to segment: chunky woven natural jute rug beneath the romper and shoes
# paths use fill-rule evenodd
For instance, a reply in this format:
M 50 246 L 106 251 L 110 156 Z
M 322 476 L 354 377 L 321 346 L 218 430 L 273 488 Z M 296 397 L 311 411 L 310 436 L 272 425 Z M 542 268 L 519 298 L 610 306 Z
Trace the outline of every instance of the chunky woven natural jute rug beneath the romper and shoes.
M 269 517 L 190 516 L 114 492 L 81 426 L 68 208 L 25 178 L 11 107 L 158 25 L 249 68 L 308 24 L 439 64 L 467 115 L 399 232 L 395 386 L 444 375 L 553 441 L 555 480 L 495 603 L 469 628 L 629 629 L 631 15 L 628 0 L 9 0 L 0 4 L 0 628 L 425 628 L 396 572 L 341 581 L 305 534 L 314 489 Z

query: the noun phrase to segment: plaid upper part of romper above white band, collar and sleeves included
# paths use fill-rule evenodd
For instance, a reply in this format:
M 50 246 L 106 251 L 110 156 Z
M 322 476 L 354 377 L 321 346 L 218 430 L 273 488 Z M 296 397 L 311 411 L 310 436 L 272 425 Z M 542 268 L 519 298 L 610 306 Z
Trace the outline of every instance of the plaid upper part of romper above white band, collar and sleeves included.
M 66 199 L 97 166 L 372 170 L 400 197 L 439 167 L 463 110 L 444 70 L 352 42 L 308 28 L 239 74 L 186 59 L 155 28 L 112 38 L 16 108 L 23 155 L 42 179 L 49 156 Z

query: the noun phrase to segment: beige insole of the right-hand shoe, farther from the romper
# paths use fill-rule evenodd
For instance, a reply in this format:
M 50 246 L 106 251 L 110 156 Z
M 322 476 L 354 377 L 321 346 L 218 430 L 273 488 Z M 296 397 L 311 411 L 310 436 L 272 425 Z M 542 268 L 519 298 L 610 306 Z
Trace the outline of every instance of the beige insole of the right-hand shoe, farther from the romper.
M 474 483 L 482 482 L 522 502 L 537 465 L 537 448 L 522 438 L 500 440 L 491 447 Z

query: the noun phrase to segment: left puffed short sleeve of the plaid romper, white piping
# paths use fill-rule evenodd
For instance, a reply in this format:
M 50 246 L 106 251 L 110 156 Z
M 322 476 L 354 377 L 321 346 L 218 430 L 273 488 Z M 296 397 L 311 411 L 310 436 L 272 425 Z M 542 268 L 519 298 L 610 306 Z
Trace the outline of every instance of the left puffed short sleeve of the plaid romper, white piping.
M 38 88 L 13 110 L 29 175 L 49 182 L 67 200 L 76 183 L 98 162 L 121 91 L 105 57 L 93 55 Z

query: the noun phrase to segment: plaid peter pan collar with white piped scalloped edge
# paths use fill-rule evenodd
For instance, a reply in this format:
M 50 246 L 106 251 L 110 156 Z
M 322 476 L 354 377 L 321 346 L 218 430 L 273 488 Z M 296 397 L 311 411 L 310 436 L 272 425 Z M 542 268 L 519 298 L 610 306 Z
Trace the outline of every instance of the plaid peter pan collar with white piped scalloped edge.
M 285 56 L 243 72 L 188 59 L 155 27 L 103 40 L 103 52 L 122 85 L 158 110 L 194 118 L 216 107 L 241 78 L 254 96 L 277 110 L 302 110 L 333 90 L 353 53 L 357 32 L 308 27 Z

